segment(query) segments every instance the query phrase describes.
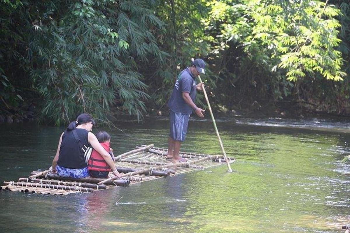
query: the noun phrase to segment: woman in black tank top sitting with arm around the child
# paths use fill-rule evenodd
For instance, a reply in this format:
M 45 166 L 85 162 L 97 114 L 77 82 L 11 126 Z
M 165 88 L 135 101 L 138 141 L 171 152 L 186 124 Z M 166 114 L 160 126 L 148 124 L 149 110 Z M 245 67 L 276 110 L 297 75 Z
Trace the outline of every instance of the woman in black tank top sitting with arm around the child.
M 94 120 L 86 113 L 80 114 L 76 121 L 69 124 L 59 138 L 57 152 L 52 161 L 51 169 L 53 172 L 57 172 L 62 177 L 83 178 L 89 176 L 84 151 L 80 148 L 80 144 L 84 147 L 91 145 L 112 168 L 114 175 L 119 176 L 111 155 L 101 146 L 96 136 L 90 132 L 94 124 Z M 74 131 L 77 133 L 80 143 L 77 143 Z

